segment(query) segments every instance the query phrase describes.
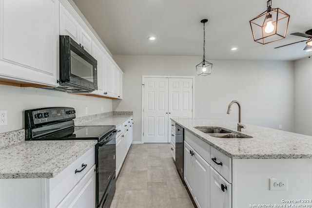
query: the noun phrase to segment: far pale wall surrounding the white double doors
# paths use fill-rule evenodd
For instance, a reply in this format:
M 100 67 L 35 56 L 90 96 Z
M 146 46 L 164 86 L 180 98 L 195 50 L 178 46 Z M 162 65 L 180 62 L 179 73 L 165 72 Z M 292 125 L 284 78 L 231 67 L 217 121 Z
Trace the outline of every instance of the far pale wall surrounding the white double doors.
M 195 76 L 195 117 L 238 121 L 238 107 L 226 114 L 229 103 L 242 106 L 242 123 L 294 131 L 292 61 L 209 60 L 210 76 L 197 76 L 201 57 L 113 56 L 124 72 L 123 100 L 114 111 L 134 112 L 134 141 L 141 141 L 143 75 Z M 248 128 L 248 125 L 247 125 Z

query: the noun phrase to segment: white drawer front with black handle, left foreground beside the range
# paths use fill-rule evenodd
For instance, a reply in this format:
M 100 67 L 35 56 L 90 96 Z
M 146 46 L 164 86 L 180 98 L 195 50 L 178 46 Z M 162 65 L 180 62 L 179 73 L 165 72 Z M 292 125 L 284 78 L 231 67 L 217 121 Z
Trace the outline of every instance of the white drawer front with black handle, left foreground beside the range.
M 81 172 L 75 173 L 75 170 L 81 170 L 82 164 L 87 165 Z M 50 207 L 56 207 L 59 202 L 73 189 L 81 178 L 95 164 L 95 147 L 81 155 L 76 161 L 61 171 L 56 177 L 47 180 L 47 189 L 50 193 L 48 203 Z

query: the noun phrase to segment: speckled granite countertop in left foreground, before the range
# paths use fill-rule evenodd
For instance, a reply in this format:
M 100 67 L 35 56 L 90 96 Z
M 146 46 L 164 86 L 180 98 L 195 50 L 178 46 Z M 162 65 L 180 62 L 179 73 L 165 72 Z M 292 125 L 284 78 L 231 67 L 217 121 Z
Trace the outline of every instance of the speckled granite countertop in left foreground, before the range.
M 0 178 L 52 178 L 97 140 L 23 141 L 0 148 Z

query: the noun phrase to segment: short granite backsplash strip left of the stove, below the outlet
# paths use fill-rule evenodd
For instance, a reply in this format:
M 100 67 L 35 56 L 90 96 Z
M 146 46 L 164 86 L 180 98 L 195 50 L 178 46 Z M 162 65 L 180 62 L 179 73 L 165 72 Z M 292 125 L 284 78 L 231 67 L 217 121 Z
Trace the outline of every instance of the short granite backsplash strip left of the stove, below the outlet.
M 13 145 L 25 140 L 25 130 L 0 133 L 0 148 Z

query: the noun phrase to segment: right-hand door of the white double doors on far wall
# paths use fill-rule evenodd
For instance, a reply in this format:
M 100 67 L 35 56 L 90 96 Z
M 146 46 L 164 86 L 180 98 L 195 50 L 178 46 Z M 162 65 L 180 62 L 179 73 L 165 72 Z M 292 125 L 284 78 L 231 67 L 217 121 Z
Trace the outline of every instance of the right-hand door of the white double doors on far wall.
M 168 111 L 170 118 L 193 117 L 193 79 L 192 78 L 169 78 Z M 169 122 L 170 130 L 171 122 Z M 168 143 L 170 137 L 168 138 Z

